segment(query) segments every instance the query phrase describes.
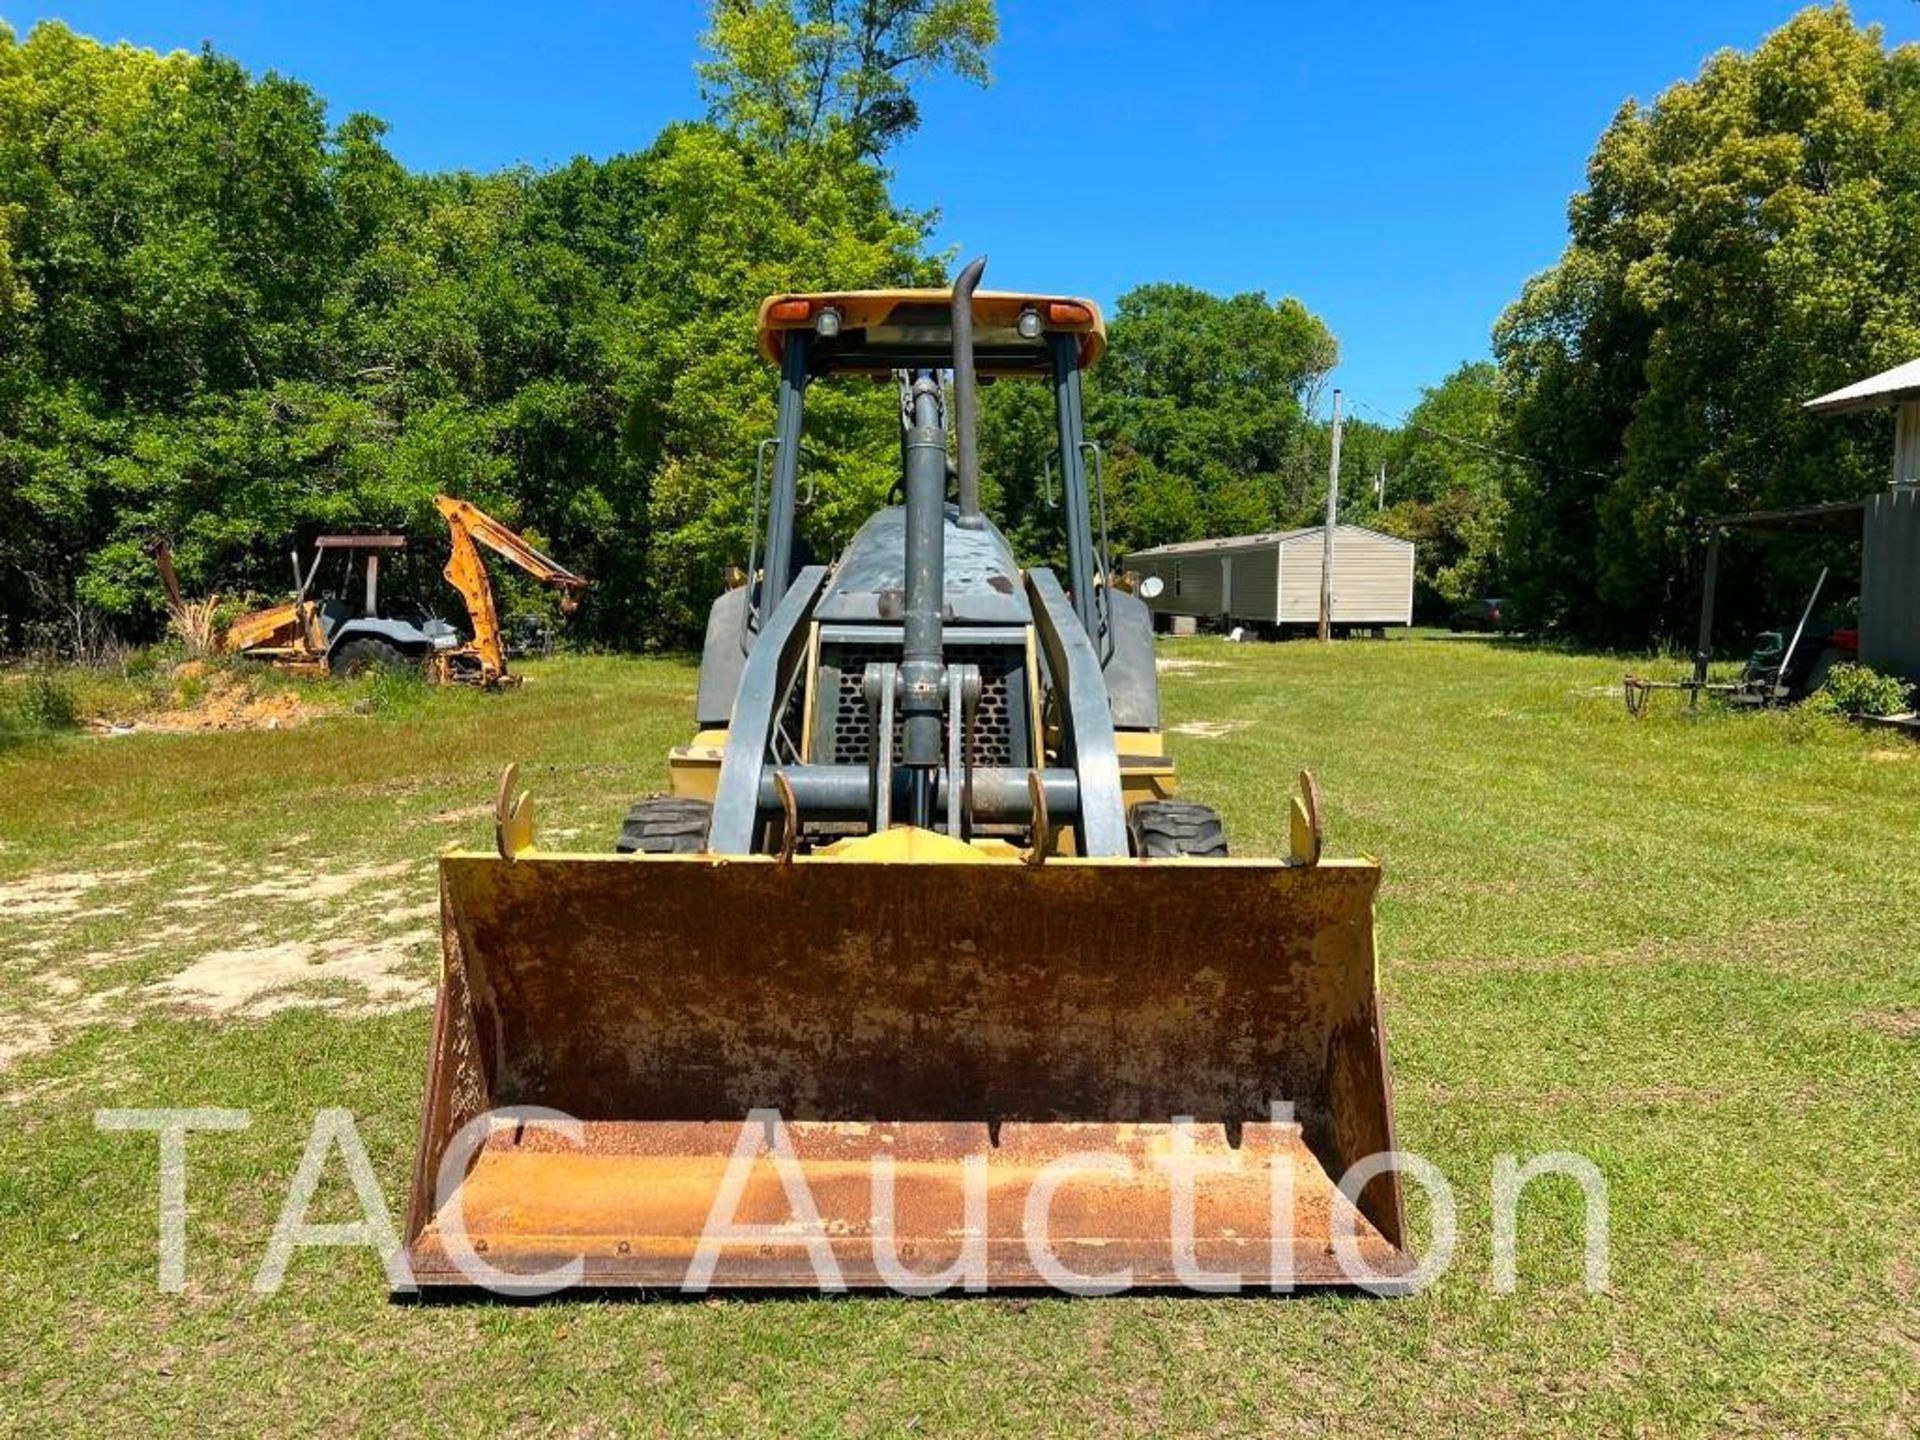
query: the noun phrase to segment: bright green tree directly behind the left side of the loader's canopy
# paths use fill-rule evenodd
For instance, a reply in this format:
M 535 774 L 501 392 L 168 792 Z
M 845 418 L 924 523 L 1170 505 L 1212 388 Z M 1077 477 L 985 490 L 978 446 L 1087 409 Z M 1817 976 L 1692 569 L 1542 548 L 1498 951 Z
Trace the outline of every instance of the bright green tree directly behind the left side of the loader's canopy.
M 920 253 L 925 219 L 897 211 L 885 177 L 835 146 L 774 154 L 676 127 L 651 159 L 647 259 L 622 311 L 624 424 L 651 470 L 643 524 L 660 624 L 685 636 L 724 566 L 747 561 L 755 447 L 774 428 L 774 376 L 755 351 L 760 298 L 937 284 L 941 269 Z M 808 392 L 801 524 L 818 553 L 883 503 L 899 455 L 893 405 L 874 386 Z

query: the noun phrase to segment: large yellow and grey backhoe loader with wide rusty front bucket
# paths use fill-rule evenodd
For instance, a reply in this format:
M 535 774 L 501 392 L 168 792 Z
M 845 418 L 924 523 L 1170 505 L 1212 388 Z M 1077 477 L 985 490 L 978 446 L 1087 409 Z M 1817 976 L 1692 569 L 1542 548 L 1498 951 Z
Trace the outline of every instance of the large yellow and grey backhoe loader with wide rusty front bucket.
M 1229 856 L 1177 799 L 1083 426 L 1098 309 L 783 294 L 755 543 L 697 733 L 609 852 L 440 862 L 407 1286 L 1200 1290 L 1413 1273 L 1379 866 Z M 904 503 L 801 563 L 810 386 L 899 390 Z M 977 384 L 1056 401 L 1068 572 L 981 511 Z M 954 463 L 948 463 L 948 455 Z M 1277 816 L 1279 820 L 1279 816 Z

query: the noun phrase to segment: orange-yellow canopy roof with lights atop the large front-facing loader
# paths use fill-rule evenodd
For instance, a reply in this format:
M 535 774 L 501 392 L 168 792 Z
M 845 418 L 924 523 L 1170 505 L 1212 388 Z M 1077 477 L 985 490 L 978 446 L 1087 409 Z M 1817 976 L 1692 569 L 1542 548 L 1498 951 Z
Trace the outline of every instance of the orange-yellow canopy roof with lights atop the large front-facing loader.
M 950 290 L 837 290 L 768 296 L 760 305 L 760 355 L 780 365 L 787 334 L 806 330 L 814 374 L 939 371 L 952 365 Z M 1048 334 L 1079 336 L 1085 371 L 1106 351 L 1106 321 L 1091 300 L 973 294 L 973 369 L 983 378 L 1052 374 Z

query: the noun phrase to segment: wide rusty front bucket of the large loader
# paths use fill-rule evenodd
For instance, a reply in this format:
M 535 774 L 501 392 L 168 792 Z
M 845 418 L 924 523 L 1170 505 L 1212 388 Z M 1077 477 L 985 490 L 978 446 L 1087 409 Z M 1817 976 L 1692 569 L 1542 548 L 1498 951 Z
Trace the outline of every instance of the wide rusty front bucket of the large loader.
M 1392 1290 L 1377 883 L 451 852 L 415 1281 Z

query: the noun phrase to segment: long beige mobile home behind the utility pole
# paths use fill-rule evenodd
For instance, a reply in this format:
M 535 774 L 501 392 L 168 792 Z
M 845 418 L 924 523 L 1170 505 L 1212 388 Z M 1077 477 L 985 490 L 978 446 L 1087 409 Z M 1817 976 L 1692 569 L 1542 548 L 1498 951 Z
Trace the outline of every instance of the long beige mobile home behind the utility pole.
M 1162 589 L 1156 616 L 1188 614 L 1256 630 L 1319 624 L 1325 530 L 1271 530 L 1263 536 L 1190 540 L 1127 555 L 1125 568 Z M 1379 628 L 1413 624 L 1413 541 L 1334 526 L 1332 624 Z

